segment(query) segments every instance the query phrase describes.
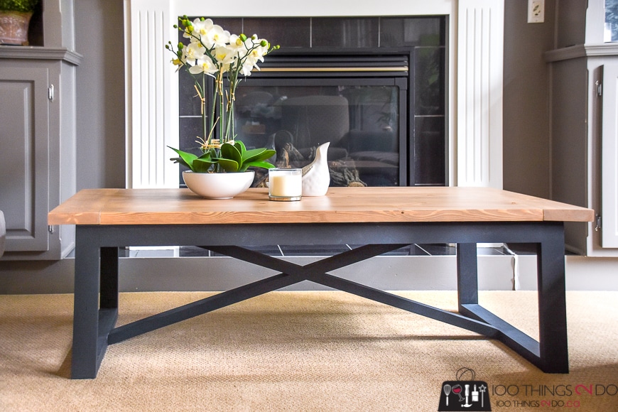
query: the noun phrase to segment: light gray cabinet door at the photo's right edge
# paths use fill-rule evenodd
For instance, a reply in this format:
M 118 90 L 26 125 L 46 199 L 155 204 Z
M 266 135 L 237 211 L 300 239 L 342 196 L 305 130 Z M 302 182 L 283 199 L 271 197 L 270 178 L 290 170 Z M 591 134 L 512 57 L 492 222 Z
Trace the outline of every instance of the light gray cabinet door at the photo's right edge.
M 603 66 L 602 247 L 618 247 L 618 65 Z

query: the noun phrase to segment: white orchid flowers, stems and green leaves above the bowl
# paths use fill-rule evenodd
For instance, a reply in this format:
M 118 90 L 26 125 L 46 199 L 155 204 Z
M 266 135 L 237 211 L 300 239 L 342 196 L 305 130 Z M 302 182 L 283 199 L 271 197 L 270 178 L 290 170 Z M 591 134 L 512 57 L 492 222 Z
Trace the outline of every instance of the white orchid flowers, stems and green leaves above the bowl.
M 212 23 L 210 18 L 190 21 L 183 16 L 179 20 L 181 26 L 174 27 L 183 32 L 183 38 L 187 38 L 189 43 L 179 42 L 178 47 L 174 48 L 168 42 L 166 48 L 174 53 L 172 63 L 178 70 L 185 69 L 193 76 L 202 108 L 203 135 L 197 136 L 202 155 L 196 156 L 170 147 L 180 156 L 171 160 L 198 173 L 244 172 L 251 166 L 273 168 L 266 159 L 271 158 L 275 151 L 266 148 L 247 150 L 242 141 L 235 140 L 234 99 L 239 82 L 250 76 L 253 70 L 259 70 L 258 63 L 279 46 L 271 46 L 257 35 L 249 38 L 244 34 L 230 34 Z M 207 76 L 214 79 L 215 85 L 210 116 L 206 114 Z M 227 85 L 224 84 L 224 77 L 227 77 Z M 215 118 L 217 109 L 218 116 Z M 218 133 L 213 136 L 217 124 Z

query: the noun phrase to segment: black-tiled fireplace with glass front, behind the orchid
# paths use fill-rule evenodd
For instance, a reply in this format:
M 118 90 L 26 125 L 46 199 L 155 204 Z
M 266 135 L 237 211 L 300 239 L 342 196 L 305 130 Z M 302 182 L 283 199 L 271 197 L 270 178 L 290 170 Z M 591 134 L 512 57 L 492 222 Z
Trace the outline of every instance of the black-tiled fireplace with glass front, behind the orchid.
M 213 21 L 281 45 L 237 90 L 247 147 L 275 148 L 277 166 L 302 167 L 329 141 L 335 186 L 448 184 L 445 16 Z M 179 75 L 180 147 L 190 148 L 200 107 L 193 79 Z

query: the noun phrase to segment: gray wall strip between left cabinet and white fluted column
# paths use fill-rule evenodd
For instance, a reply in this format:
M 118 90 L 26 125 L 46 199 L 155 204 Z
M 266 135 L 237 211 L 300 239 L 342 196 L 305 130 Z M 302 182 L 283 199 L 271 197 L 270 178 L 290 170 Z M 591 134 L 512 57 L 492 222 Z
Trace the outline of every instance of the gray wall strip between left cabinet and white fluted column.
M 77 190 L 124 188 L 122 0 L 75 1 Z

